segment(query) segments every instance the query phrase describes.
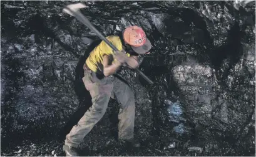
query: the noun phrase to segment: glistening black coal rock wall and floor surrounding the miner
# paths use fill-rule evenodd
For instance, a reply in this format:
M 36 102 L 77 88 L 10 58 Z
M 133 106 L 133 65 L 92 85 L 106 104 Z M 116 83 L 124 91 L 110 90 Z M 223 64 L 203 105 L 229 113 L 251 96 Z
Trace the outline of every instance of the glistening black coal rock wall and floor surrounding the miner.
M 100 40 L 68 1 L 1 1 L 1 155 L 63 156 L 91 105 L 83 63 Z M 142 27 L 153 48 L 118 74 L 135 92 L 140 151 L 115 140 L 118 103 L 84 138 L 89 156 L 255 156 L 255 3 L 86 1 L 105 36 Z M 99 142 L 101 141 L 101 142 Z

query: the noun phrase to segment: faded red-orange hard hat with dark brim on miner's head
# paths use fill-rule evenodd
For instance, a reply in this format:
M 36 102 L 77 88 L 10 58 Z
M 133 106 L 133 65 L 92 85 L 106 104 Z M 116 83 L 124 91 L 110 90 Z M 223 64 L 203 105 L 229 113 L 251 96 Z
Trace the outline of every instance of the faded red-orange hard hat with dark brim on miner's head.
M 123 39 L 137 54 L 145 54 L 152 47 L 145 32 L 138 26 L 127 27 L 123 32 Z

